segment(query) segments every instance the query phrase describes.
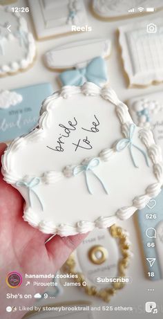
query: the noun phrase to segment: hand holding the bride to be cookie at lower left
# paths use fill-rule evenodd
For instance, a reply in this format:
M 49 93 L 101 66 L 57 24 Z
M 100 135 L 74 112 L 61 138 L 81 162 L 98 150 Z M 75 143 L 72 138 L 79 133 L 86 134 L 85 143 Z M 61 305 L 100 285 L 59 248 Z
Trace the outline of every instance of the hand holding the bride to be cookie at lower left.
M 5 144 L 0 144 L 0 156 L 6 148 Z M 70 253 L 86 237 L 86 235 L 76 235 L 70 237 L 60 237 L 45 241 L 50 237 L 40 233 L 39 230 L 30 227 L 22 219 L 23 198 L 11 185 L 3 181 L 0 175 L 0 241 L 1 241 L 1 280 L 0 287 L 1 302 L 3 309 L 10 306 L 19 307 L 22 304 L 21 299 L 6 299 L 6 294 L 11 293 L 11 289 L 6 284 L 6 275 L 12 271 L 21 273 L 23 278 L 19 287 L 20 294 L 41 293 L 45 287 L 33 286 L 32 280 L 30 285 L 26 286 L 26 273 L 52 273 L 66 262 Z M 6 253 L 8 252 L 8 253 Z M 41 262 L 40 262 L 41 261 Z M 46 280 L 47 281 L 47 280 Z M 34 303 L 34 298 L 23 299 L 23 304 L 30 307 Z M 0 317 L 3 319 L 10 318 L 10 313 L 3 313 L 0 310 Z M 24 314 L 24 313 L 23 313 Z M 21 318 L 21 311 L 13 312 L 13 318 Z

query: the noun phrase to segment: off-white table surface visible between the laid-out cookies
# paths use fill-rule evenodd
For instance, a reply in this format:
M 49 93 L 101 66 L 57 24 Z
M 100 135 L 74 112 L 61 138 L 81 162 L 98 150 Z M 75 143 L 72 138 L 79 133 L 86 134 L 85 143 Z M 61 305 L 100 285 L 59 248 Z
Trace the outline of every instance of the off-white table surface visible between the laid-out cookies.
M 35 1 L 34 1 L 35 2 Z M 130 1 L 128 1 L 129 3 Z M 82 39 L 89 39 L 93 37 L 106 37 L 111 39 L 112 49 L 111 57 L 107 60 L 108 65 L 108 77 L 109 83 L 116 91 L 119 99 L 126 101 L 128 98 L 134 97 L 136 95 L 141 95 L 144 93 L 151 93 L 154 91 L 159 91 L 163 89 L 163 84 L 157 86 L 148 86 L 146 89 L 128 89 L 126 80 L 124 78 L 124 73 L 122 69 L 121 55 L 118 48 L 118 37 L 117 37 L 117 27 L 122 26 L 123 24 L 129 24 L 134 21 L 142 21 L 142 19 L 153 19 L 156 17 L 163 17 L 163 10 L 155 14 L 148 15 L 148 17 L 136 17 L 132 19 L 122 19 L 117 21 L 100 21 L 95 19 L 92 12 L 90 11 L 90 1 L 85 0 L 87 15 L 88 15 L 88 25 L 92 26 L 92 32 L 88 33 L 79 33 L 74 35 L 67 35 L 65 37 L 57 37 L 50 40 L 37 42 L 37 60 L 33 65 L 32 69 L 24 72 L 18 73 L 17 75 L 7 76 L 6 78 L 0 79 L 1 89 L 15 89 L 21 86 L 28 86 L 32 84 L 37 84 L 41 82 L 50 82 L 53 86 L 54 91 L 59 89 L 59 84 L 57 83 L 57 73 L 49 71 L 44 66 L 43 55 L 46 51 L 51 48 L 58 46 L 60 44 L 66 44 L 68 42 L 73 42 L 75 40 L 79 41 Z M 154 1 L 153 1 L 154 3 Z M 15 6 L 28 6 L 26 1 L 20 0 L 17 3 L 14 3 Z M 33 32 L 32 19 L 30 13 L 23 13 L 28 21 L 28 26 Z M 148 313 L 144 312 L 144 304 L 146 301 L 155 301 L 157 302 L 158 309 L 162 306 L 162 280 L 152 282 L 148 280 L 144 275 L 144 259 L 141 253 L 141 245 L 138 239 L 137 226 L 135 223 L 135 218 L 128 219 L 120 224 L 130 233 L 130 238 L 132 242 L 132 248 L 134 257 L 131 260 L 131 265 L 128 269 L 128 275 L 133 277 L 133 283 L 128 284 L 119 291 L 115 297 L 111 299 L 110 305 L 112 306 L 126 306 L 133 307 L 134 314 L 131 315 L 130 312 L 122 311 L 117 313 L 111 313 L 108 311 L 103 311 L 103 313 L 96 312 L 94 314 L 96 318 L 146 318 Z M 148 292 L 148 289 L 155 289 L 154 292 Z M 104 302 L 101 302 L 97 298 L 88 297 L 82 293 L 82 291 L 76 287 L 66 287 L 64 293 L 52 300 L 52 302 L 62 302 L 69 300 L 90 300 L 93 304 L 98 305 L 107 305 Z M 46 304 L 44 302 L 39 302 L 39 304 Z M 162 309 L 163 312 L 163 309 Z M 144 314 L 143 314 L 144 313 Z M 51 313 L 52 314 L 52 313 Z M 157 318 L 162 318 L 160 313 L 157 313 Z M 39 318 L 39 317 L 35 317 Z

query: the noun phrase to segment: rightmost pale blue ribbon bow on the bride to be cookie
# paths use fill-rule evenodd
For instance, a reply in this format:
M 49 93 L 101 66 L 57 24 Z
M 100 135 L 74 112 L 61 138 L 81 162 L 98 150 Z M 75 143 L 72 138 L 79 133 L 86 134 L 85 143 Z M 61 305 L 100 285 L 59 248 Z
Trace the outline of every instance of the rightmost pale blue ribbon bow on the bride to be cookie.
M 116 148 L 117 152 L 121 152 L 121 151 L 123 151 L 123 149 L 128 147 L 130 155 L 131 155 L 131 159 L 133 161 L 133 165 L 138 168 L 138 166 L 135 163 L 134 156 L 133 156 L 133 147 L 135 147 L 136 149 L 138 149 L 142 153 L 142 155 L 144 156 L 144 159 L 146 161 L 146 165 L 148 165 L 148 158 L 147 158 L 147 155 L 143 149 L 141 149 L 137 145 L 133 144 L 133 136 L 134 136 L 135 127 L 136 127 L 135 124 L 130 125 L 129 132 L 128 132 L 128 138 L 122 138 L 121 140 L 119 140 L 117 142 L 117 145 L 115 148 Z

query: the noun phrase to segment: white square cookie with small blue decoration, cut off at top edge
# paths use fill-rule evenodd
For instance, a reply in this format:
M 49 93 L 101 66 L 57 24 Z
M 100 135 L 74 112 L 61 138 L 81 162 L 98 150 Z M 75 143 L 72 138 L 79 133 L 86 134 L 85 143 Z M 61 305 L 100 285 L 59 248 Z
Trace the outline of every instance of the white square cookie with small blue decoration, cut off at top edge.
M 83 0 L 29 0 L 38 39 L 72 32 L 72 26 L 86 26 Z

